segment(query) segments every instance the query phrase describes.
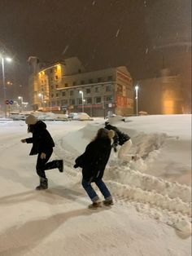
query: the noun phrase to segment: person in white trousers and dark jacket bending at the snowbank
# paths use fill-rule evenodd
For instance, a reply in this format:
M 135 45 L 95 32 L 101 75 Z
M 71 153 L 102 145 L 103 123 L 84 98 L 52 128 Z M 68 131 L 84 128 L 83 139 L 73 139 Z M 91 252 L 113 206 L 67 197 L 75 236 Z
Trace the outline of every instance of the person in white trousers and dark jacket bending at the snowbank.
M 116 126 L 112 126 L 109 121 L 105 122 L 105 129 L 115 131 L 112 148 L 114 149 L 115 152 L 117 152 L 118 145 L 121 146 L 118 152 L 118 158 L 124 161 L 136 160 L 136 156 L 129 154 L 129 149 L 132 146 L 132 140 L 129 137 L 129 135 L 119 130 Z

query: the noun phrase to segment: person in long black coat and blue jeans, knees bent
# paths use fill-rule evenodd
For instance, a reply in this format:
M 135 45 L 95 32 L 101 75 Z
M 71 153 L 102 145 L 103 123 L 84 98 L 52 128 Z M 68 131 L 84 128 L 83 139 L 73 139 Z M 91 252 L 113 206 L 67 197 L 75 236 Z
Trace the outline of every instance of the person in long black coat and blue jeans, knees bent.
M 97 208 L 101 205 L 97 193 L 91 186 L 93 182 L 98 186 L 105 198 L 103 204 L 113 204 L 111 193 L 103 182 L 103 173 L 111 154 L 111 138 L 113 136 L 114 132 L 112 130 L 99 129 L 95 139 L 85 148 L 85 152 L 76 158 L 74 168 L 82 168 L 82 186 L 93 202 L 92 205 L 89 205 L 89 208 Z

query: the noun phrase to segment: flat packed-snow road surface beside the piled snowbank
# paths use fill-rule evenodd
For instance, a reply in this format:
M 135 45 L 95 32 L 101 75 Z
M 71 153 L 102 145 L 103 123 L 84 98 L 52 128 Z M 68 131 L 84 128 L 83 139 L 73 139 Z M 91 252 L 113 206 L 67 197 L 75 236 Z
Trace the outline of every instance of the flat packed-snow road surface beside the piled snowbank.
M 114 190 L 111 208 L 87 209 L 81 174 L 72 169 L 74 156 L 67 144 L 62 149 L 63 135 L 83 126 L 50 126 L 55 154 L 66 158 L 65 172 L 47 171 L 49 189 L 43 192 L 34 190 L 36 157 L 28 156 L 30 145 L 20 143 L 26 126 L 0 126 L 0 255 L 190 255 L 190 237 L 181 239 L 158 216 L 150 217 L 149 205 L 133 203 L 125 192 Z

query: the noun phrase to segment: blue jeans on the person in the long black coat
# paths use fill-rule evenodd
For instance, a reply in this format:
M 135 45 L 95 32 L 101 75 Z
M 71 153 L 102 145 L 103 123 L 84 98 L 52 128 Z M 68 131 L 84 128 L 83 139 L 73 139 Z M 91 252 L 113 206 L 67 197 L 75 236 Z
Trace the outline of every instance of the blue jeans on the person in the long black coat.
M 97 193 L 94 191 L 94 188 L 92 188 L 91 183 L 86 181 L 85 179 L 82 179 L 82 186 L 85 189 L 85 192 L 87 192 L 88 196 L 90 197 L 90 200 L 95 202 L 98 201 L 99 197 Z M 95 184 L 98 186 L 100 192 L 102 192 L 105 200 L 111 200 L 111 193 L 109 192 L 107 186 L 105 183 L 103 183 L 102 179 L 99 179 L 95 182 Z

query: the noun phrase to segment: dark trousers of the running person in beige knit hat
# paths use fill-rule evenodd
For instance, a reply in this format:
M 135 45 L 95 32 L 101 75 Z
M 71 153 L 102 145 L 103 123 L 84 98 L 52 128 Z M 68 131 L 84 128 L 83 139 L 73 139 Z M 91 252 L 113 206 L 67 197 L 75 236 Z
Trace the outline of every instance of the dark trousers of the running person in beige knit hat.
M 36 170 L 37 170 L 37 174 L 39 175 L 40 178 L 46 179 L 45 170 L 58 168 L 58 161 L 57 160 L 50 161 L 50 162 L 47 163 L 47 161 L 49 161 L 49 159 L 50 159 L 50 156 L 52 155 L 52 152 L 53 152 L 53 149 L 50 150 L 49 152 L 46 152 L 46 158 L 45 159 L 41 159 L 41 153 L 38 154 Z

